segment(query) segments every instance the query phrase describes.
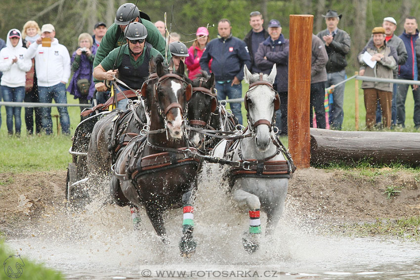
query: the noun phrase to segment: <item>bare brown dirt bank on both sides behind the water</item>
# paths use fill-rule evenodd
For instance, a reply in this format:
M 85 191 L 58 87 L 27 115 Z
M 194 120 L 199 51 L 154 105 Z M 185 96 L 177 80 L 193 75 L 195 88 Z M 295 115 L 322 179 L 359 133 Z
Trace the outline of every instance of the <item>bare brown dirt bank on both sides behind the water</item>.
M 420 215 L 420 176 L 379 169 L 359 171 L 297 170 L 290 181 L 288 202 L 302 215 L 333 223 L 370 222 Z M 0 232 L 6 236 L 34 223 L 45 207 L 64 209 L 66 171 L 0 174 Z M 391 199 L 388 186 L 401 193 Z

